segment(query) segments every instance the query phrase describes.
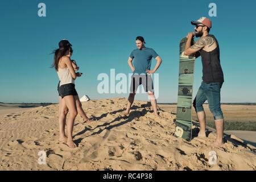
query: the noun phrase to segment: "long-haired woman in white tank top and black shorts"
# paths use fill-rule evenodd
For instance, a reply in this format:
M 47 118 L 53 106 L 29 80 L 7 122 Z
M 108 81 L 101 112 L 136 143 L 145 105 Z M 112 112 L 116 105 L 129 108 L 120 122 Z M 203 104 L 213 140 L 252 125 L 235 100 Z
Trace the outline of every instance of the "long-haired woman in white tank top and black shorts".
M 59 76 L 59 94 L 65 104 L 60 102 L 60 111 L 65 110 L 67 107 L 69 111 L 69 118 L 67 121 L 67 137 L 65 136 L 65 117 L 67 112 L 60 112 L 59 125 L 60 125 L 60 140 L 67 140 L 67 144 L 71 148 L 75 148 L 76 144 L 73 142 L 73 123 L 77 115 L 76 97 L 78 94 L 75 89 L 76 77 L 80 77 L 81 73 L 75 73 L 75 70 L 70 59 L 72 52 L 72 44 L 68 40 L 61 40 L 59 42 L 59 48 L 54 51 L 53 67 Z M 64 122 L 63 122 L 64 121 Z

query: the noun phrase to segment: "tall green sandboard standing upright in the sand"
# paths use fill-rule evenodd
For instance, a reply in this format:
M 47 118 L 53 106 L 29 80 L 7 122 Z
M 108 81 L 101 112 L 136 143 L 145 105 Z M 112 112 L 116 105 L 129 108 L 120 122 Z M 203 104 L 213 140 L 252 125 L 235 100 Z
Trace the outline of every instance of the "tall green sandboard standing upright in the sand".
M 196 57 L 195 55 L 184 55 L 186 42 L 187 38 L 183 38 L 180 41 L 179 90 L 175 136 L 190 141 L 192 138 L 191 108 Z

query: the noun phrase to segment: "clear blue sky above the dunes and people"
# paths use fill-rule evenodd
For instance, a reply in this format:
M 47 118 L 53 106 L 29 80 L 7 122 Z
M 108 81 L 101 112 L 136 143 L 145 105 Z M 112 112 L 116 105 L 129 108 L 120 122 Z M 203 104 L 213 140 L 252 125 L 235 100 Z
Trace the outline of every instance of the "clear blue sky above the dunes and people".
M 46 4 L 46 17 L 38 4 Z M 218 39 L 225 83 L 222 102 L 256 102 L 255 1 L 21 1 L 0 2 L 0 102 L 57 102 L 58 77 L 50 68 L 61 39 L 73 44 L 73 59 L 84 75 L 76 80 L 80 97 L 127 97 L 99 94 L 99 73 L 131 73 L 127 65 L 135 37 L 163 59 L 158 102 L 177 101 L 179 41 L 193 31 L 191 20 L 207 16 L 217 5 L 211 34 Z M 156 61 L 152 60 L 152 69 Z M 194 96 L 201 83 L 201 58 L 196 60 Z M 147 100 L 146 94 L 135 99 Z

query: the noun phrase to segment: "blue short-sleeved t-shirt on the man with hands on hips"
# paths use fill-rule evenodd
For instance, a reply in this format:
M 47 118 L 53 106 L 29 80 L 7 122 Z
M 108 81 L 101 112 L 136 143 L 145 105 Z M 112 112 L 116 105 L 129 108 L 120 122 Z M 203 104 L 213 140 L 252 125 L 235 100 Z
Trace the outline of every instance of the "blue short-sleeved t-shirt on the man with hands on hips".
M 130 55 L 135 68 L 133 73 L 146 74 L 146 69 L 150 70 L 152 57 L 156 58 L 157 56 L 158 54 L 151 48 L 134 49 Z

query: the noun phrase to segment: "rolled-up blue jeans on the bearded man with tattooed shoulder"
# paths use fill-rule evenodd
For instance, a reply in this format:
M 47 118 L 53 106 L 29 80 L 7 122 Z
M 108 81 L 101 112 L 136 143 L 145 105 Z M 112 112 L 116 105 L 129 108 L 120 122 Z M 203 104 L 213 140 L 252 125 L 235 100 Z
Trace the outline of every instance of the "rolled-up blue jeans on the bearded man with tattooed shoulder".
M 220 106 L 220 90 L 222 84 L 222 82 L 202 82 L 196 94 L 196 98 L 193 101 L 193 106 L 197 113 L 204 111 L 203 104 L 205 101 L 208 101 L 209 109 L 213 114 L 214 120 L 223 119 L 223 113 Z

